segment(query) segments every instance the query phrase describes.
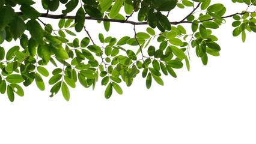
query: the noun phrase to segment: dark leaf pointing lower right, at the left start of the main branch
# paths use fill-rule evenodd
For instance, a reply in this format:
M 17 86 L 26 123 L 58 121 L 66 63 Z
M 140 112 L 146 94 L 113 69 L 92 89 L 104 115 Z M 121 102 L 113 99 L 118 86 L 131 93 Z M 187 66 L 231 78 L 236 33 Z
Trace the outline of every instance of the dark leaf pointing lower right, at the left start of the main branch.
M 35 10 L 35 8 L 30 7 L 29 5 L 23 4 L 20 7 L 20 10 L 22 11 L 22 14 L 24 14 L 26 17 L 30 19 L 37 19 L 41 14 Z

